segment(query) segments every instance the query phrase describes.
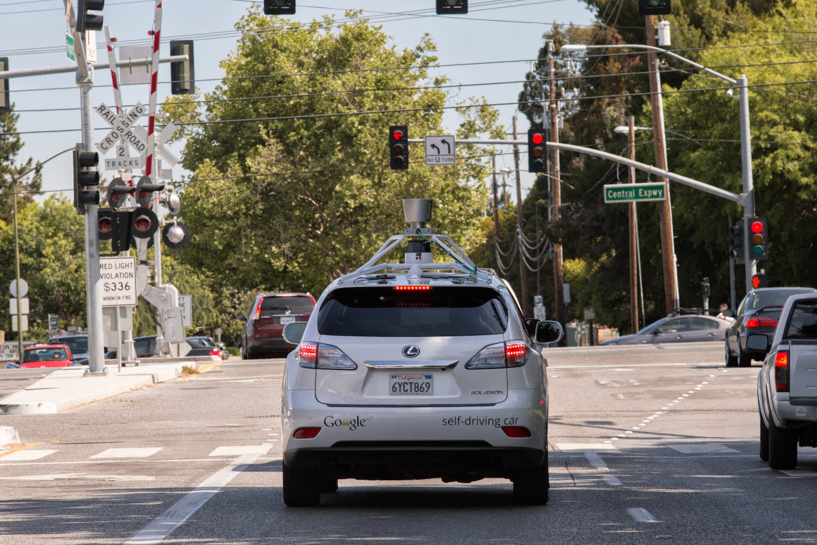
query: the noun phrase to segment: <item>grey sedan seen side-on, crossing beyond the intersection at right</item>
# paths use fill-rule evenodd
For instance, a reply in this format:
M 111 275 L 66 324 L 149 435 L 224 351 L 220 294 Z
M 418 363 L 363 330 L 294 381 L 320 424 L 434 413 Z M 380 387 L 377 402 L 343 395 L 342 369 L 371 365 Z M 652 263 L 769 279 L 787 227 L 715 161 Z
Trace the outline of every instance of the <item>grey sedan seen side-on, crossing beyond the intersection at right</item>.
M 638 333 L 613 337 L 599 344 L 609 346 L 723 341 L 727 325 L 725 320 L 708 315 L 667 316 L 641 329 Z

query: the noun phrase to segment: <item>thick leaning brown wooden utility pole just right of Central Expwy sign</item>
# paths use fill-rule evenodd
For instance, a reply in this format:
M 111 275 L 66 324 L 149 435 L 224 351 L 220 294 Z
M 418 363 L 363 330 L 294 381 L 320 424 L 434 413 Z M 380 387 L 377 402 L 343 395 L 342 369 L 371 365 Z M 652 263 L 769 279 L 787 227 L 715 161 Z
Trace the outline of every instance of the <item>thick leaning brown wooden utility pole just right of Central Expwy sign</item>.
M 646 16 L 647 45 L 655 45 L 655 27 L 653 16 Z M 650 102 L 653 109 L 653 141 L 655 150 L 655 166 L 663 171 L 667 170 L 667 147 L 664 141 L 663 104 L 661 100 L 661 83 L 659 81 L 659 60 L 655 51 L 647 51 L 647 65 L 650 71 Z M 664 275 L 664 300 L 667 304 L 667 314 L 680 308 L 676 286 L 675 268 L 675 240 L 672 235 L 672 207 L 667 178 L 657 176 L 658 181 L 667 184 L 667 199 L 659 202 L 659 224 L 661 227 L 661 257 Z

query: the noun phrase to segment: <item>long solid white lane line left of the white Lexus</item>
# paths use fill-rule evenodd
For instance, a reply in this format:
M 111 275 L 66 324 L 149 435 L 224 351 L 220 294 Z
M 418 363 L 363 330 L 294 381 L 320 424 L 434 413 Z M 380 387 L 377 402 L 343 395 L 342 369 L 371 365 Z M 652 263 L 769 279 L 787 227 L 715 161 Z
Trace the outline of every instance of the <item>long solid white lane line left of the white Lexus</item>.
M 213 473 L 201 485 L 193 489 L 190 494 L 167 508 L 145 528 L 128 539 L 124 545 L 151 545 L 161 542 L 260 456 L 261 454 L 244 454 L 239 458 L 235 458 L 230 462 L 230 465 L 222 467 L 219 471 Z

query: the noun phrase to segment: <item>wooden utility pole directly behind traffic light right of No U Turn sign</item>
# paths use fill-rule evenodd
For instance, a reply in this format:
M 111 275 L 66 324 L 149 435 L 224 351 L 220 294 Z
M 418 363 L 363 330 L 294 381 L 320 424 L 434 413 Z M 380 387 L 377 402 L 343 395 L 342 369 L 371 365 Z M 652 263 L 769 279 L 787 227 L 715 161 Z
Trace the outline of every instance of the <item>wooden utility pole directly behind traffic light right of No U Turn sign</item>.
M 559 141 L 559 106 L 556 102 L 556 67 L 553 59 L 553 40 L 547 41 L 547 62 L 550 69 L 548 81 L 550 82 L 550 102 L 547 105 L 551 127 L 547 134 L 551 142 Z M 551 218 L 554 223 L 558 223 L 561 217 L 561 178 L 559 165 L 559 150 L 551 148 Z M 562 248 L 561 237 L 556 236 L 553 240 L 553 305 L 556 306 L 556 321 L 565 324 L 565 304 L 564 304 L 565 278 L 562 274 Z

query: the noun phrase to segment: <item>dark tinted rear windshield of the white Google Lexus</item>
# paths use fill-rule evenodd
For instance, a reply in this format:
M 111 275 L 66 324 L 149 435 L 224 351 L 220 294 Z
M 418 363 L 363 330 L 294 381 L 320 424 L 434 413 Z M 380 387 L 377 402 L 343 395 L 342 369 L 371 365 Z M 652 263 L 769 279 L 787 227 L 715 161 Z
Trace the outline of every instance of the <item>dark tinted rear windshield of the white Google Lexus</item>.
M 318 333 L 349 337 L 465 337 L 507 328 L 507 307 L 492 288 L 393 286 L 336 289 L 318 313 Z

